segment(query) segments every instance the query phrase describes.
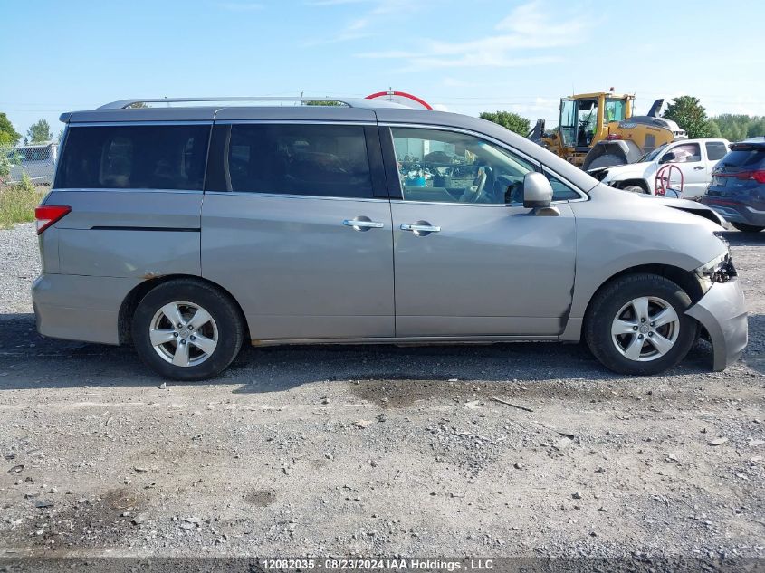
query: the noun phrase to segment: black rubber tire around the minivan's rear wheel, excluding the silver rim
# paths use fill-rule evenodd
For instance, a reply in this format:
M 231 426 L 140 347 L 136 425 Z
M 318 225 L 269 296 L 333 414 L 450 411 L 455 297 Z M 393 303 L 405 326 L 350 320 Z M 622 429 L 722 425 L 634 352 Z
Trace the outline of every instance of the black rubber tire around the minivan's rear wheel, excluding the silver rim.
M 155 348 L 151 342 L 150 329 L 155 326 L 156 320 L 161 321 L 159 326 L 162 329 L 175 329 L 175 327 L 168 326 L 167 316 L 163 315 L 157 318 L 159 310 L 173 302 L 196 305 L 196 307 L 206 310 L 212 319 L 207 321 L 205 325 L 199 326 L 200 329 L 206 329 L 204 330 L 206 338 L 216 339 L 215 349 L 209 354 L 195 346 L 200 339 L 204 339 L 202 334 L 194 330 L 189 332 L 188 329 L 177 329 L 184 339 L 186 356 L 190 357 L 196 353 L 196 360 L 202 360 L 198 364 L 177 366 L 169 362 L 169 358 L 163 358 L 164 355 L 171 354 L 173 349 L 176 349 L 177 352 L 177 345 L 181 338 L 170 339 L 159 349 Z M 194 313 L 194 306 L 181 304 L 177 308 L 185 311 L 186 319 L 191 318 Z M 191 321 L 193 322 L 193 320 Z M 162 327 L 162 324 L 165 326 Z M 190 326 L 194 327 L 195 325 L 191 324 Z M 192 342 L 195 334 L 199 339 Z M 223 372 L 236 358 L 244 339 L 244 320 L 234 301 L 224 292 L 206 282 L 194 279 L 178 279 L 164 282 L 155 289 L 148 291 L 133 314 L 132 335 L 133 343 L 141 360 L 160 376 L 175 380 L 204 380 Z M 186 359 L 186 362 L 189 360 Z

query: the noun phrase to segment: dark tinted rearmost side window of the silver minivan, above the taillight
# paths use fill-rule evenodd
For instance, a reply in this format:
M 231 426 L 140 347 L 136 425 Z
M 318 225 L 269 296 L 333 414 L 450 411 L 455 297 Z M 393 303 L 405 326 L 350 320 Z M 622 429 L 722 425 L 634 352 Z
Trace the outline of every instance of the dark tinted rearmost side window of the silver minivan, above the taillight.
M 209 125 L 70 126 L 59 188 L 201 191 Z

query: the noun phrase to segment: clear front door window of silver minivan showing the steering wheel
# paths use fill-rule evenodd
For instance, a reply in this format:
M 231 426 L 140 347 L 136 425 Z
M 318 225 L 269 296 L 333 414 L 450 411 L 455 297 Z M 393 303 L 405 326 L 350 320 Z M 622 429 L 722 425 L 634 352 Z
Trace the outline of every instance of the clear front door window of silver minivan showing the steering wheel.
M 507 205 L 523 201 L 534 166 L 488 141 L 454 131 L 392 128 L 405 201 Z

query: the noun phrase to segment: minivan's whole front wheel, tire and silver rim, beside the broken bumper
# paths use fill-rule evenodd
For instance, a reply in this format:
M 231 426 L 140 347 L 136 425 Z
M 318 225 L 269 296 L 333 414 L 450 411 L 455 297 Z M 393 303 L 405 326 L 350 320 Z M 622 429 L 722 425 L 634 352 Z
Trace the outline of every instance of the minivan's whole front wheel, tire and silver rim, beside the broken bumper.
M 685 358 L 697 338 L 698 323 L 685 314 L 690 306 L 687 293 L 663 276 L 623 276 L 596 293 L 584 338 L 595 358 L 614 372 L 658 374 Z M 667 313 L 660 315 L 663 310 Z M 655 318 L 671 321 L 652 326 Z

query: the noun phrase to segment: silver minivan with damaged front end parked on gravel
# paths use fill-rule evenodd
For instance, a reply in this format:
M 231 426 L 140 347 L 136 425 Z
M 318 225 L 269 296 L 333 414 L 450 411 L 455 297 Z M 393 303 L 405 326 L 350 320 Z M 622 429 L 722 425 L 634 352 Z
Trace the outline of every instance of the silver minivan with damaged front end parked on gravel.
M 674 367 L 700 335 L 715 370 L 746 346 L 703 205 L 598 184 L 464 115 L 143 101 L 163 107 L 62 115 L 36 213 L 45 336 L 132 343 L 181 380 L 215 377 L 245 341 L 584 339 L 633 375 Z

